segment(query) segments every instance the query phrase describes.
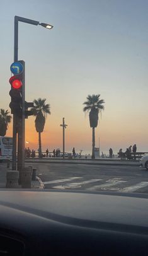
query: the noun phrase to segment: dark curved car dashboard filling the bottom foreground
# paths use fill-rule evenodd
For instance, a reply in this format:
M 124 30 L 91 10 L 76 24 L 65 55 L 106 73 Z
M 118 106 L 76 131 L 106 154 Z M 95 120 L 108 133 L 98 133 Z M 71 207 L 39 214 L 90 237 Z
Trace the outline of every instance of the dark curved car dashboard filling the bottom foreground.
M 147 194 L 0 190 L 0 255 L 147 255 Z

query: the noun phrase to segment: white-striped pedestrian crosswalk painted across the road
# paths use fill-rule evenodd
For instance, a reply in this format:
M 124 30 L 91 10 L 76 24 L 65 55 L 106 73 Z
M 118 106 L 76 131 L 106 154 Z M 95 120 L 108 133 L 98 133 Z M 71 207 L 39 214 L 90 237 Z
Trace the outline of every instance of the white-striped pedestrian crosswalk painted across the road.
M 126 180 L 125 178 L 93 178 L 85 180 L 83 177 L 61 178 L 43 182 L 45 189 L 84 189 L 89 191 L 118 191 L 118 192 L 137 192 L 139 189 L 148 191 L 148 182 L 137 182 Z

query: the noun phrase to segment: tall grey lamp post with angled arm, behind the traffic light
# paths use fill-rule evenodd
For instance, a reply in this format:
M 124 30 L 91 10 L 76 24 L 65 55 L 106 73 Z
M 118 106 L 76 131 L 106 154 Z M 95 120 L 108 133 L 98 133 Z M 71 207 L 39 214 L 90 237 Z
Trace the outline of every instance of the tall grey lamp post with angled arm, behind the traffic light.
M 51 29 L 52 25 L 47 23 L 40 23 L 39 21 L 26 19 L 19 16 L 14 16 L 14 62 L 18 61 L 18 21 L 23 23 L 28 23 L 31 25 L 40 25 L 45 28 Z M 25 92 L 24 92 L 25 93 Z M 25 95 L 24 95 L 25 96 Z M 25 104 L 25 102 L 24 102 Z M 25 106 L 23 106 L 24 108 Z M 18 129 L 19 125 L 19 129 Z M 24 150 L 25 150 L 25 115 L 20 119 L 16 114 L 13 115 L 13 161 L 12 170 L 16 170 L 16 144 L 17 144 L 17 134 L 21 142 L 18 143 L 18 163 L 21 163 L 21 170 L 24 167 Z

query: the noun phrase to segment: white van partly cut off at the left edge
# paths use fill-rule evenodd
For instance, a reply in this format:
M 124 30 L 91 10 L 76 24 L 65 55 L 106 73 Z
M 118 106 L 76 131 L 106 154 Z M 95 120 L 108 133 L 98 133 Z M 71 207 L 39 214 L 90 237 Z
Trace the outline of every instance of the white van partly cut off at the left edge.
M 0 136 L 0 160 L 12 159 L 13 138 Z

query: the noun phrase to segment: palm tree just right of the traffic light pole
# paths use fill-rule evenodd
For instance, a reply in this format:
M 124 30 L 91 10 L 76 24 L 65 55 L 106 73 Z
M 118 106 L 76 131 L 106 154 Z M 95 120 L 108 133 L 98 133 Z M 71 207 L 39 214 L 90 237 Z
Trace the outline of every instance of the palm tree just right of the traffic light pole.
M 33 115 L 36 116 L 35 119 L 35 128 L 38 132 L 38 155 L 42 157 L 42 143 L 41 143 L 41 132 L 43 132 L 45 126 L 45 119 L 47 117 L 47 113 L 50 114 L 50 104 L 45 104 L 46 99 L 38 98 L 38 100 L 33 100 L 34 107 L 31 108 L 33 110 Z

